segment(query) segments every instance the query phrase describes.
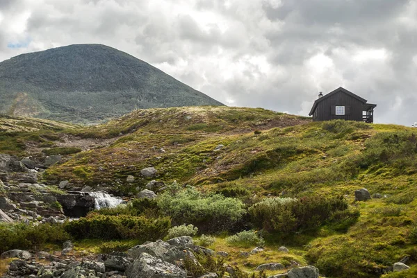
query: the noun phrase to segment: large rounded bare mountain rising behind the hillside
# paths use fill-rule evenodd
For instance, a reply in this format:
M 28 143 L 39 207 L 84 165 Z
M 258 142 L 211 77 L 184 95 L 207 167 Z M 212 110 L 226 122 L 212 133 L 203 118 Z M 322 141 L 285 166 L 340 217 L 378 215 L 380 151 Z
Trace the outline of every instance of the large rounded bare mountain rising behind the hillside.
M 138 108 L 222 105 L 132 55 L 74 44 L 0 62 L 0 113 L 95 123 Z

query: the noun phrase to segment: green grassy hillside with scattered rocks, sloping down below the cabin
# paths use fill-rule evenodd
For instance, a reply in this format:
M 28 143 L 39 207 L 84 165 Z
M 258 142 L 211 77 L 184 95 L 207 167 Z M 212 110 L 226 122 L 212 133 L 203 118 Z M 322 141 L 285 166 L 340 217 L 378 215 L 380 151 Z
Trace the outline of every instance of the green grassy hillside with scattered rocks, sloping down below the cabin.
M 3 153 L 16 155 L 8 163 L 7 175 L 0 177 L 8 178 L 4 186 L 13 192 L 22 187 L 35 202 L 43 202 L 38 199 L 41 195 L 55 196 L 56 191 L 70 195 L 107 191 L 129 203 L 54 226 L 59 233 L 52 234 L 48 224 L 42 224 L 38 229 L 49 233 L 49 239 L 26 245 L 4 239 L 8 249 L 35 251 L 71 239 L 80 263 L 98 260 L 106 265 L 97 253 L 123 251 L 118 254 L 131 261 L 126 263 L 129 270 L 120 274 L 133 277 L 139 275 L 133 269 L 154 265 L 158 258 L 163 268 L 175 266 L 172 258 L 158 257 L 165 251 L 155 251 L 171 249 L 171 243 L 156 240 L 193 236 L 214 255 L 198 255 L 193 249 L 190 252 L 201 268 L 183 259 L 174 277 L 216 272 L 218 277 L 254 273 L 255 277 L 317 278 L 317 271 L 325 277 L 346 278 L 416 275 L 417 132 L 412 128 L 318 123 L 235 107 L 136 110 L 104 125 L 58 128 L 52 137 L 45 136 L 46 125 L 38 128 L 34 133 L 0 132 L 1 143 L 21 142 L 20 148 L 0 145 L 6 146 Z M 46 163 L 51 158 L 56 159 L 54 164 Z M 25 163 L 24 171 L 19 162 Z M 42 188 L 33 186 L 35 181 L 29 182 L 31 186 L 19 182 L 31 172 L 25 167 L 39 172 L 36 182 Z M 33 211 L 22 207 L 23 200 L 10 202 L 16 209 Z M 41 207 L 47 207 L 45 203 Z M 70 203 L 81 207 L 83 200 Z M 40 211 L 44 210 L 35 213 Z M 10 218 L 36 218 L 13 213 L 19 214 L 6 211 Z M 46 222 L 45 217 L 38 221 Z M 15 234 L 35 233 L 15 229 Z M 7 231 L 0 229 L 0 239 L 2 231 L 7 238 Z M 183 240 L 181 244 L 189 247 L 195 244 Z M 297 270 L 304 266 L 309 267 Z M 107 276 L 111 270 L 105 266 Z M 84 273 L 88 267 L 81 265 L 77 271 Z M 291 276 L 291 271 L 305 275 Z

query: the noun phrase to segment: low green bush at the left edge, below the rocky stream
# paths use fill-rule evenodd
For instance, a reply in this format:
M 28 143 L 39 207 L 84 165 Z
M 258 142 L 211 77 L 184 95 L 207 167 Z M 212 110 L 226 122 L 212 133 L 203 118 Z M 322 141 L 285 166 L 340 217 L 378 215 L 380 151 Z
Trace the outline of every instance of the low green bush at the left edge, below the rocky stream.
M 39 249 L 47 243 L 62 244 L 70 239 L 63 225 L 49 223 L 38 226 L 0 223 L 0 253 L 11 249 Z

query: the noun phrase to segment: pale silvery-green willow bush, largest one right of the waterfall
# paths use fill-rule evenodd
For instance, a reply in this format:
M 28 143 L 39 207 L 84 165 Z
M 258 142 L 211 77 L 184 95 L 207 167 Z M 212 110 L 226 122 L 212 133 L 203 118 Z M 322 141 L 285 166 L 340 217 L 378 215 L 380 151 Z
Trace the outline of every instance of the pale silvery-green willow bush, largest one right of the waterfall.
M 161 213 L 170 216 L 175 225 L 190 223 L 202 233 L 232 229 L 245 214 L 243 202 L 238 199 L 220 194 L 204 196 L 192 188 L 178 190 L 175 184 L 157 202 Z

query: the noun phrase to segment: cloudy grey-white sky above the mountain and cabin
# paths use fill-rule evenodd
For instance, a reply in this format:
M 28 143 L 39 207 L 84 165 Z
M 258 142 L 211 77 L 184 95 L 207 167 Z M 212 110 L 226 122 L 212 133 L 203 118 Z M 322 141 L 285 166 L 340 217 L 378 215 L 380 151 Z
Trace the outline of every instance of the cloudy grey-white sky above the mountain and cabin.
M 417 121 L 417 0 L 0 0 L 0 61 L 84 43 L 227 105 L 307 115 L 342 86 Z

